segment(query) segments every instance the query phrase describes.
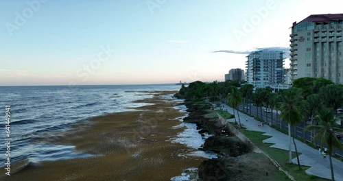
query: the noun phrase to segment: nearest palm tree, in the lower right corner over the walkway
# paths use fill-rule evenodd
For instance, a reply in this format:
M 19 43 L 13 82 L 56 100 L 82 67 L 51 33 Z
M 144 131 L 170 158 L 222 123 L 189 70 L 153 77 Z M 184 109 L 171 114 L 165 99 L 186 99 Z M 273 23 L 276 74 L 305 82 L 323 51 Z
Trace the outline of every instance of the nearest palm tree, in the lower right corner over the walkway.
M 322 106 L 322 108 L 317 112 L 316 121 L 318 121 L 318 125 L 309 125 L 306 130 L 315 130 L 317 134 L 314 136 L 314 141 L 321 137 L 321 143 L 329 147 L 328 154 L 330 159 L 331 179 L 335 180 L 331 156 L 334 146 L 340 149 L 343 148 L 342 143 L 340 143 L 338 138 L 335 136 L 335 132 L 343 132 L 343 130 L 336 127 L 337 123 L 335 123 L 333 111 L 330 108 Z

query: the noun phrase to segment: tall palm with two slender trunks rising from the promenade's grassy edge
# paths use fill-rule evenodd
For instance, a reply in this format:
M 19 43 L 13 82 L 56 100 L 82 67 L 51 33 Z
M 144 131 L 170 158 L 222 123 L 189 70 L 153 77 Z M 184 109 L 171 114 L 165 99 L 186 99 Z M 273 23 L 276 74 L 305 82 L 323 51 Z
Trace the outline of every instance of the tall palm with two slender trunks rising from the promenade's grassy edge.
M 291 125 L 293 128 L 293 143 L 296 149 L 296 142 L 294 136 L 296 135 L 296 123 L 303 120 L 303 95 L 301 95 L 300 88 L 289 88 L 285 90 L 280 104 L 280 118 L 288 123 L 288 141 L 289 141 L 289 163 L 292 163 L 292 147 L 291 147 Z M 296 149 L 296 159 L 300 167 L 298 150 Z

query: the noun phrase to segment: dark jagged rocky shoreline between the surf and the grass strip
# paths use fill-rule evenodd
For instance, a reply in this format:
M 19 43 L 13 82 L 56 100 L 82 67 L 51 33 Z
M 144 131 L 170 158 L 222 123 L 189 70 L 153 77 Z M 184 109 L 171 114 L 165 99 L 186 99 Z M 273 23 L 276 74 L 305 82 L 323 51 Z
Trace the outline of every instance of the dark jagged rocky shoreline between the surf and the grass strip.
M 237 137 L 235 125 L 221 120 L 210 103 L 186 99 L 184 104 L 189 112 L 184 122 L 196 123 L 200 134 L 213 135 L 206 138 L 202 150 L 218 154 L 218 158 L 204 160 L 200 164 L 197 180 L 275 179 L 273 172 L 278 169 L 250 141 Z M 264 162 L 262 167 L 261 162 Z

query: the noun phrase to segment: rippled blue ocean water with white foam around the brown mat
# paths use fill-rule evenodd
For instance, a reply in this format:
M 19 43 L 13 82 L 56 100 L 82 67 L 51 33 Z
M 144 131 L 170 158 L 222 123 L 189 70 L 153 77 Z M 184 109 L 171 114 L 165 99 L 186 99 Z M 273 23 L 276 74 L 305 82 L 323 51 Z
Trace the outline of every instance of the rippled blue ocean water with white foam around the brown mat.
M 2 145 L 5 133 L 5 106 L 10 106 L 11 162 L 54 161 L 86 157 L 88 154 L 74 152 L 73 145 L 53 145 L 41 142 L 45 136 L 66 130 L 71 125 L 93 117 L 114 112 L 124 112 L 145 106 L 133 101 L 152 97 L 141 91 L 179 90 L 180 85 L 116 85 L 116 86 L 2 86 L 0 87 L 0 131 Z M 171 97 L 172 95 L 167 95 Z M 185 112 L 185 106 L 176 107 Z M 198 151 L 204 138 L 198 134 L 196 125 L 182 123 L 184 127 L 171 143 L 187 145 L 191 152 L 180 156 L 215 158 L 215 154 Z M 0 147 L 0 163 L 5 164 L 6 147 Z M 182 176 L 183 177 L 183 176 Z M 176 179 L 176 178 L 175 178 Z M 181 179 L 181 178 L 180 178 Z

